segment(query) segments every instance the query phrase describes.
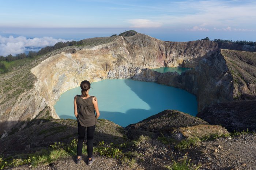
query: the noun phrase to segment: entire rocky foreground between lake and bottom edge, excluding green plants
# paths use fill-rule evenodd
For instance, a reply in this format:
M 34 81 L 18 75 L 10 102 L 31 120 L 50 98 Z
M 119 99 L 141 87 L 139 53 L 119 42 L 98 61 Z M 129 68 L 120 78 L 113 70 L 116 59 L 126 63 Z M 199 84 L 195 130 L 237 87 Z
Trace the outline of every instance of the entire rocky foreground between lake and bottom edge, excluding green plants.
M 161 124 L 157 124 L 160 120 L 170 123 L 168 131 L 161 127 L 157 128 L 158 125 L 161 126 Z M 172 124 L 172 121 L 175 123 Z M 200 170 L 255 170 L 255 133 L 244 133 L 243 135 L 230 137 L 221 126 L 209 125 L 200 118 L 177 110 L 165 110 L 126 128 L 108 120 L 98 120 L 98 122 L 94 146 L 98 147 L 98 142 L 102 140 L 105 143 L 113 142 L 116 144 L 115 146 L 125 143 L 125 146 L 119 148 L 124 155 L 134 158 L 134 163 L 128 165 L 128 163 L 122 162 L 120 158 L 107 158 L 95 153 L 95 162 L 91 166 L 87 165 L 86 155 L 83 155 L 82 163 L 76 165 L 75 155 L 73 155 L 37 167 L 27 164 L 10 169 L 167 170 L 165 166 L 171 165 L 172 159 L 176 162 L 182 162 L 184 156 L 187 155 L 188 159 L 191 159 L 191 163 L 201 165 Z M 205 132 L 202 133 L 202 129 L 200 130 L 198 126 L 204 129 Z M 156 129 L 160 129 L 160 131 Z M 15 157 L 18 153 L 33 153 L 48 148 L 49 144 L 53 144 L 54 141 L 68 143 L 76 138 L 76 131 L 75 120 L 34 120 L 22 131 L 15 132 L 0 140 L 1 155 Z M 179 136 L 177 134 L 181 137 L 175 137 Z M 225 136 L 224 134 L 226 134 L 226 137 L 206 140 L 206 137 L 210 137 L 212 134 L 217 134 L 217 136 Z M 180 140 L 192 139 L 193 137 L 200 137 L 201 139 L 197 141 L 195 146 L 183 150 L 176 147 Z

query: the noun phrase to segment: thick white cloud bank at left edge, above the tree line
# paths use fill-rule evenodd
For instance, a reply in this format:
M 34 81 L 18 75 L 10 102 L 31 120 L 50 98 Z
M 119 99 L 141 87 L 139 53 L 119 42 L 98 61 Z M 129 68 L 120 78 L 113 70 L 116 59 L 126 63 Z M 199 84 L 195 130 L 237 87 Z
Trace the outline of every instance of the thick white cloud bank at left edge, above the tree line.
M 26 38 L 24 36 L 14 38 L 13 36 L 2 37 L 0 35 L 0 55 L 16 55 L 19 53 L 24 53 L 27 49 L 36 50 L 48 45 L 54 45 L 60 41 L 66 42 L 71 40 L 55 39 L 52 37 Z

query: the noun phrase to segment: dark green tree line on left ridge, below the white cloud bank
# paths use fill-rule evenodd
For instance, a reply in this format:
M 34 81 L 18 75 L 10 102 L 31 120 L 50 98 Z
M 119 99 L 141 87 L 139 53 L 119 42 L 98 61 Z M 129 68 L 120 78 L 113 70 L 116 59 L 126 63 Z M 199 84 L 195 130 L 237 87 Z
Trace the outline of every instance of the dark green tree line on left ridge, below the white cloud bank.
M 15 56 L 12 56 L 11 54 L 9 54 L 6 57 L 0 56 L 0 61 L 10 62 L 10 61 L 15 61 L 15 60 L 20 60 L 20 59 L 23 59 L 23 58 L 34 58 L 35 56 L 47 54 L 49 52 L 52 52 L 54 50 L 57 50 L 57 49 L 60 49 L 60 48 L 63 48 L 63 47 L 72 46 L 72 45 L 82 45 L 82 44 L 83 44 L 83 40 L 58 42 L 54 46 L 46 46 L 46 47 L 42 48 L 41 50 L 39 50 L 38 52 L 29 51 L 27 54 L 26 53 L 20 53 L 20 54 L 16 54 Z M 0 68 L 1 68 L 1 65 L 2 64 L 0 64 Z

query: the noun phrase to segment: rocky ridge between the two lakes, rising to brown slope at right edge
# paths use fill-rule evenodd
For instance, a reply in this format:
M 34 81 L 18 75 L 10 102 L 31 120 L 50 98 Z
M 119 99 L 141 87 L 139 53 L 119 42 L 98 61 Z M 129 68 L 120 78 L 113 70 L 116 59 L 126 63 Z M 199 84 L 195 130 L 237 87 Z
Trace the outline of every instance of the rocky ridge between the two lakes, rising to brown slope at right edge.
M 187 65 L 193 67 L 192 64 L 195 64 L 194 69 L 181 74 L 161 74 L 150 69 L 140 69 L 133 79 L 185 89 L 196 95 L 200 111 L 212 104 L 233 99 L 254 99 L 255 58 L 255 52 L 218 50 L 191 61 Z

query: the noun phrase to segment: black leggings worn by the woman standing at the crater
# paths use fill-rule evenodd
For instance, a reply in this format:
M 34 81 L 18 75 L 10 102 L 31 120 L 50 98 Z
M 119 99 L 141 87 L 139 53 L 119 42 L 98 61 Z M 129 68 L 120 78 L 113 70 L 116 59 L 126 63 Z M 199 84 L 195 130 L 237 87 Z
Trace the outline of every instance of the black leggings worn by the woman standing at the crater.
M 82 155 L 83 141 L 84 141 L 84 133 L 85 126 L 81 126 L 78 124 L 78 143 L 76 148 L 76 156 Z M 87 127 L 87 157 L 93 157 L 93 135 L 94 135 L 95 125 Z

